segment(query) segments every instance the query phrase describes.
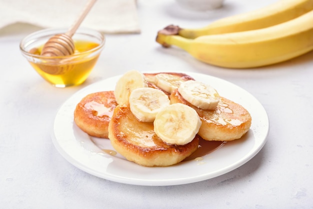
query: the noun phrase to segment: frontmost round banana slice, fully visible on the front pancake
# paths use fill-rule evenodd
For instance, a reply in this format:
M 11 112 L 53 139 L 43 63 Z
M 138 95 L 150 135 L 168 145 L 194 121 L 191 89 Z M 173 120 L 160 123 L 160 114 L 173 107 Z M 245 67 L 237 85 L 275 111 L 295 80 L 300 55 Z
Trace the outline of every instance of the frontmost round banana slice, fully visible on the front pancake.
M 154 132 L 164 142 L 184 145 L 195 137 L 199 131 L 201 120 L 192 107 L 175 103 L 158 111 L 153 125 Z

